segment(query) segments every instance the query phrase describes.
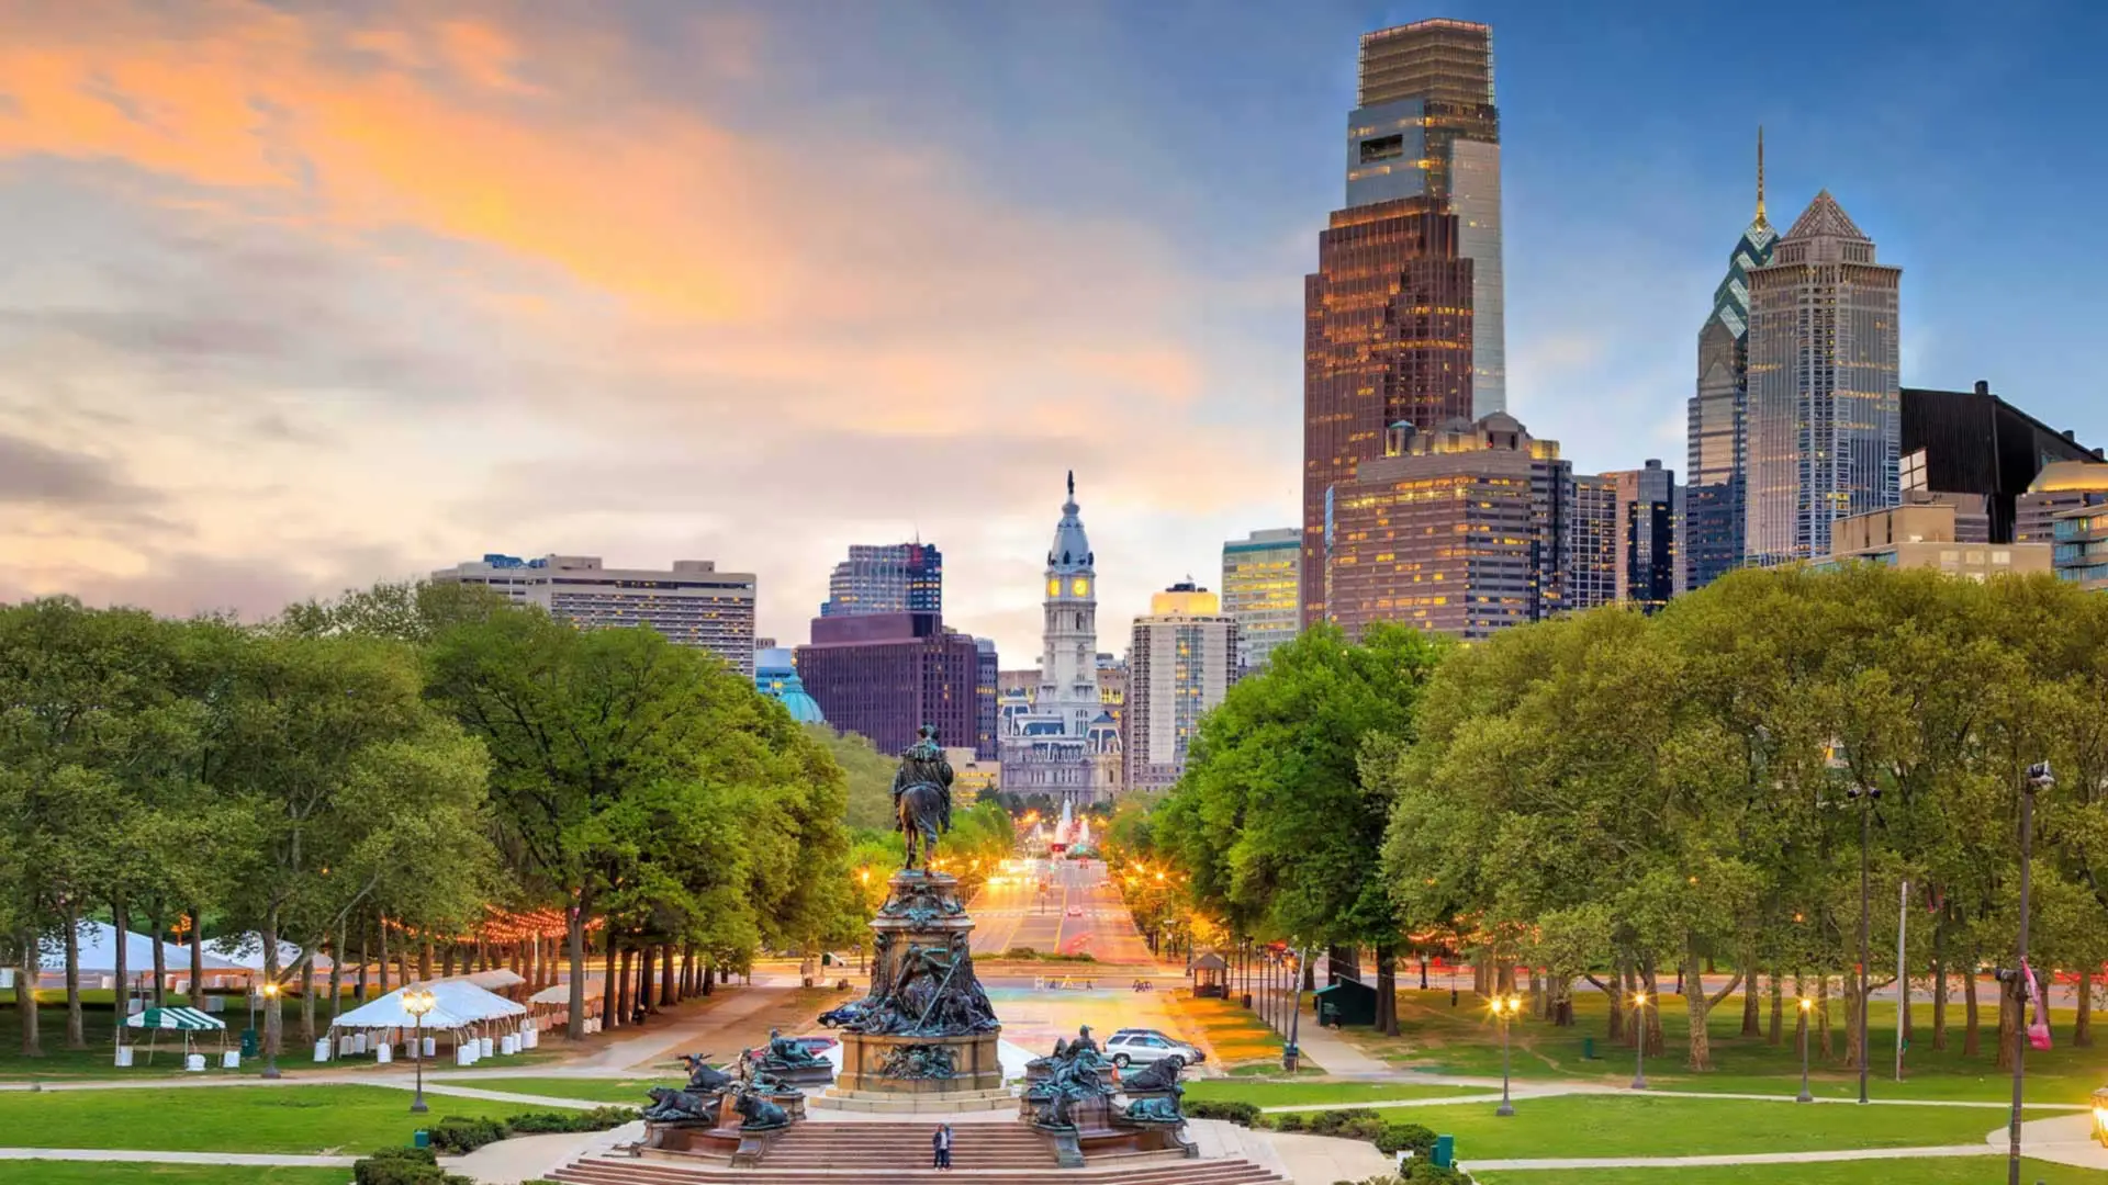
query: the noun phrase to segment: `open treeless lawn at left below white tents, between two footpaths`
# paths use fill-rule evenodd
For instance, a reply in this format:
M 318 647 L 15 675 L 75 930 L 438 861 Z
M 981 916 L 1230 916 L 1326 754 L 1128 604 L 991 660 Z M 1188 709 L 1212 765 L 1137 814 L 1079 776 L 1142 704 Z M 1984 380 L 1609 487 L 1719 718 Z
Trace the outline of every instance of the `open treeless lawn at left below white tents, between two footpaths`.
M 188 1090 L 0 1090 L 0 1132 L 17 1147 L 285 1151 L 358 1155 L 407 1145 L 443 1115 L 504 1120 L 521 1103 L 432 1096 L 409 1113 L 386 1086 L 198 1086 Z

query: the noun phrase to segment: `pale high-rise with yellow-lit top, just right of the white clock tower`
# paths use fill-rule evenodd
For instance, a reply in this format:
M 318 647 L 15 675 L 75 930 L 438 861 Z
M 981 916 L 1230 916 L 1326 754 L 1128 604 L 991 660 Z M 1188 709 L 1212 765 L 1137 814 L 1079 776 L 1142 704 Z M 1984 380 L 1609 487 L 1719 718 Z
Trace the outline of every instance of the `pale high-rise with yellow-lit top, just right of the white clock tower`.
M 1199 717 L 1237 681 L 1237 620 L 1191 580 L 1149 599 L 1128 649 L 1128 789 L 1168 791 L 1185 774 Z

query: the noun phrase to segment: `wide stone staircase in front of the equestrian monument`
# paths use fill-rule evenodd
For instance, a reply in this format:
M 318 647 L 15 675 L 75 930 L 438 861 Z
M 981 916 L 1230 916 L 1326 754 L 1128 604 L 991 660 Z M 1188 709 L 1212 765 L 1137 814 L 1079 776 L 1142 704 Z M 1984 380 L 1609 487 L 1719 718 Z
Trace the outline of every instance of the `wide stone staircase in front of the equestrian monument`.
M 833 1179 L 1006 1181 L 1012 1185 L 1277 1185 L 1282 1177 L 1250 1160 L 1119 1158 L 1060 1168 L 1046 1137 L 1010 1124 L 955 1124 L 953 1172 L 930 1168 L 936 1124 L 799 1124 L 769 1147 L 759 1166 L 666 1158 L 588 1158 L 552 1177 L 573 1185 L 809 1185 Z

